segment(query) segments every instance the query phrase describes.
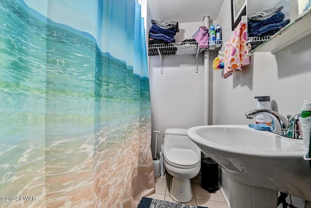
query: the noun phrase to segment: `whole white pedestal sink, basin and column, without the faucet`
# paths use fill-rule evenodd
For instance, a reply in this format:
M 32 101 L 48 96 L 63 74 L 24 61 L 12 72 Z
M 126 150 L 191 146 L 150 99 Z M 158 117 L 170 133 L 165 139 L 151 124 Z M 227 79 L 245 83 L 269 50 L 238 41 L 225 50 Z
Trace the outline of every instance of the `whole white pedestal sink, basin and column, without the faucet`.
M 276 208 L 277 191 L 311 201 L 302 140 L 244 125 L 198 126 L 187 134 L 228 177 L 231 208 Z

